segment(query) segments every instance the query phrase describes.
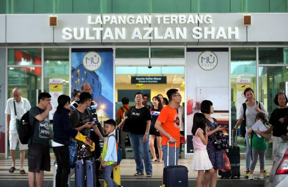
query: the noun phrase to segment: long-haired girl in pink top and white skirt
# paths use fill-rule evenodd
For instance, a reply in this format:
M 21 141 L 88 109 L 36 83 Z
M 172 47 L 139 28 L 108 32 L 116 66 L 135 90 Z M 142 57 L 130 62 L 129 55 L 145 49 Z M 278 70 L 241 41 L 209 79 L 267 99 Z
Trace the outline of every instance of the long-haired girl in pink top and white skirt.
M 202 187 L 208 184 L 214 173 L 214 169 L 212 167 L 211 161 L 209 159 L 206 150 L 208 135 L 204 114 L 202 113 L 194 114 L 193 126 L 191 132 L 193 134 L 193 147 L 194 147 L 194 155 L 192 159 L 191 169 L 198 170 L 196 187 Z M 205 176 L 203 185 L 201 185 L 205 170 L 208 170 L 208 174 Z

